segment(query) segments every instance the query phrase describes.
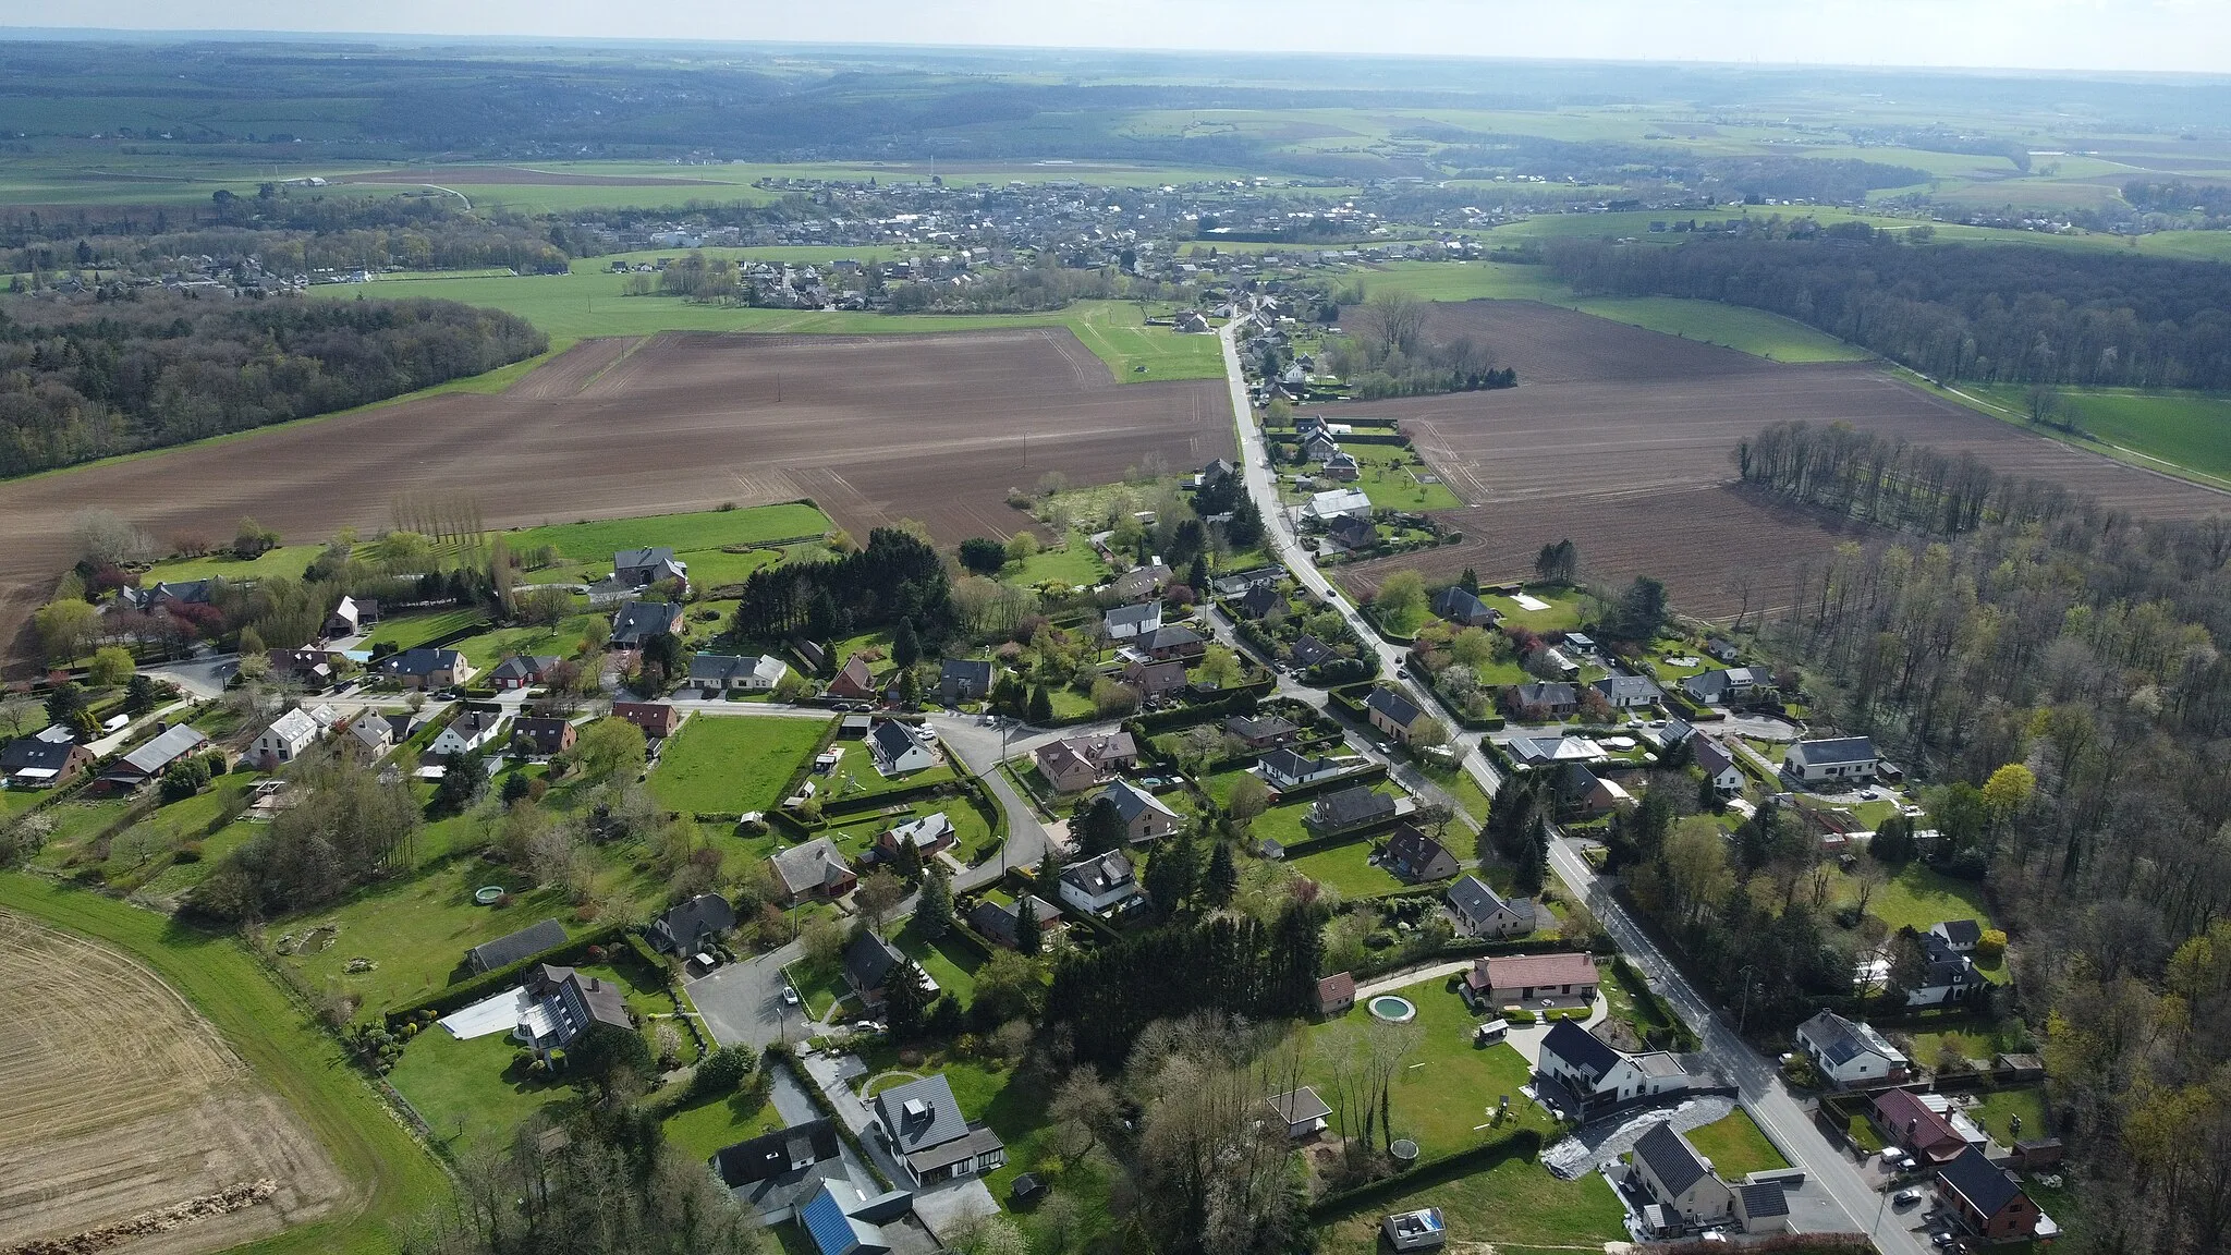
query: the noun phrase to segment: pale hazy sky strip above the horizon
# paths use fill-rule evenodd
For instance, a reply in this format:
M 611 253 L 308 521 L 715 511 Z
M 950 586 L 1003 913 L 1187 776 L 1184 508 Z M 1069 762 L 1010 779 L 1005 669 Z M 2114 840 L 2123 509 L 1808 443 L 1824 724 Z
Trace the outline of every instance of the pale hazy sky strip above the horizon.
M 0 0 L 0 27 L 2231 74 L 2231 0 Z

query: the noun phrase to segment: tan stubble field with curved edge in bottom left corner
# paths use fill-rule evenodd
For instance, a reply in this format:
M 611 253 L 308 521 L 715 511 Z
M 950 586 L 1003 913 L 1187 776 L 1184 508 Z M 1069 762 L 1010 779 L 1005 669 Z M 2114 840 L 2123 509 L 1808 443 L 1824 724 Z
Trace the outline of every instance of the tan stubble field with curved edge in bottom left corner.
M 0 911 L 0 1251 L 270 1179 L 265 1204 L 112 1251 L 194 1255 L 344 1199 L 294 1114 L 152 971 Z

